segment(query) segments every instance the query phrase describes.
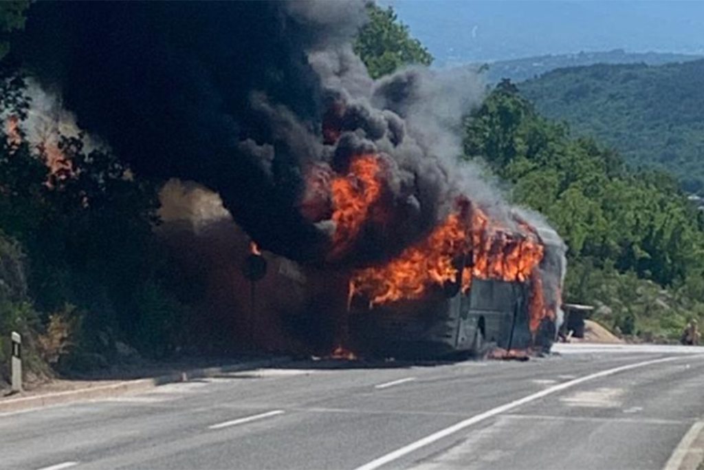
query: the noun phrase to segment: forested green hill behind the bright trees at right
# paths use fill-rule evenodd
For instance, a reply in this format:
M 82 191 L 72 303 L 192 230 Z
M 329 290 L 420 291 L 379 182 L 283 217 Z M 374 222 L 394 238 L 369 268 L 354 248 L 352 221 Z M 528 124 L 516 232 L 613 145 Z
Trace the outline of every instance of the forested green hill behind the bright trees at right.
M 546 116 L 704 194 L 704 60 L 560 68 L 518 85 Z

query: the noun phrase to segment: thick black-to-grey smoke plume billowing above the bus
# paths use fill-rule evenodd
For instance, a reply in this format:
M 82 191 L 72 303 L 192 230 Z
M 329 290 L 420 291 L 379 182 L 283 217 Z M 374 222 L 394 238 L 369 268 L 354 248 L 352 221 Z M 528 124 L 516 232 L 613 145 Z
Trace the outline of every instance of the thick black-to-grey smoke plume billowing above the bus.
M 365 20 L 359 1 L 40 1 L 15 51 L 134 171 L 210 187 L 263 248 L 297 261 L 323 261 L 334 230 L 326 202 L 304 200 L 306 175 L 378 152 L 393 226 L 360 235 L 360 264 L 427 233 L 454 194 L 494 197 L 454 163 L 476 80 L 373 82 L 350 47 Z

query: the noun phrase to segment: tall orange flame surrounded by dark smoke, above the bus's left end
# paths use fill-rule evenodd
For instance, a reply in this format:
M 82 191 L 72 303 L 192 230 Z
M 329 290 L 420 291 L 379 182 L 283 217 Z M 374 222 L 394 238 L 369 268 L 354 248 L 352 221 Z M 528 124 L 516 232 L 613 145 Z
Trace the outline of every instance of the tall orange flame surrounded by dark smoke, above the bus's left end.
M 353 158 L 348 175 L 332 180 L 333 258 L 351 247 L 367 221 L 370 208 L 381 196 L 380 173 L 379 157 L 361 154 Z

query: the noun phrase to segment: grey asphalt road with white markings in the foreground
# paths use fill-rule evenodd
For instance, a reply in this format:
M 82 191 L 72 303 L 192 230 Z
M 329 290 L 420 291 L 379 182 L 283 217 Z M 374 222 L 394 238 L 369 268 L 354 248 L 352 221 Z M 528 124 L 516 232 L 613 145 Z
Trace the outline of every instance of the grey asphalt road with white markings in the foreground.
M 3 414 L 0 468 L 663 469 L 703 426 L 704 348 L 556 350 L 307 362 Z

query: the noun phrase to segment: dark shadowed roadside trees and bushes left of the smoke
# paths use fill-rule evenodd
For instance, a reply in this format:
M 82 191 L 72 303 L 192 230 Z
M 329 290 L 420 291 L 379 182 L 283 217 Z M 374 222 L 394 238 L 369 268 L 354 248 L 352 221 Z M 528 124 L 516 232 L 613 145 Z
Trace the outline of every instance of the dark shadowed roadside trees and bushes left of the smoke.
M 0 116 L 18 124 L 0 130 L 0 337 L 18 330 L 34 357 L 74 369 L 106 364 L 118 340 L 166 354 L 180 323 L 164 319 L 180 305 L 161 286 L 156 185 L 83 135 L 30 144 L 24 79 L 7 64 L 0 79 Z M 68 166 L 52 171 L 50 152 Z

